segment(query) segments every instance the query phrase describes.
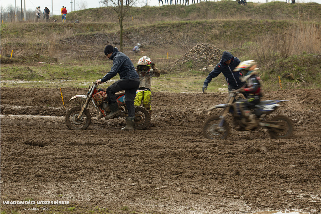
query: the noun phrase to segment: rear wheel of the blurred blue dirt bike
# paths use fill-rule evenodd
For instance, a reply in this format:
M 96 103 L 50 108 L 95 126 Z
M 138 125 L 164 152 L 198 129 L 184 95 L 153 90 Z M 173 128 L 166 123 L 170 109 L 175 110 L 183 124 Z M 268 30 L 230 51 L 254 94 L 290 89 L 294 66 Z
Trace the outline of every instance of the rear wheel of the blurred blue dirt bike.
M 294 125 L 290 118 L 284 115 L 277 115 L 273 117 L 270 121 L 275 121 L 276 125 L 282 126 L 282 129 L 270 128 L 269 133 L 272 139 L 277 138 L 290 138 L 294 131 Z

